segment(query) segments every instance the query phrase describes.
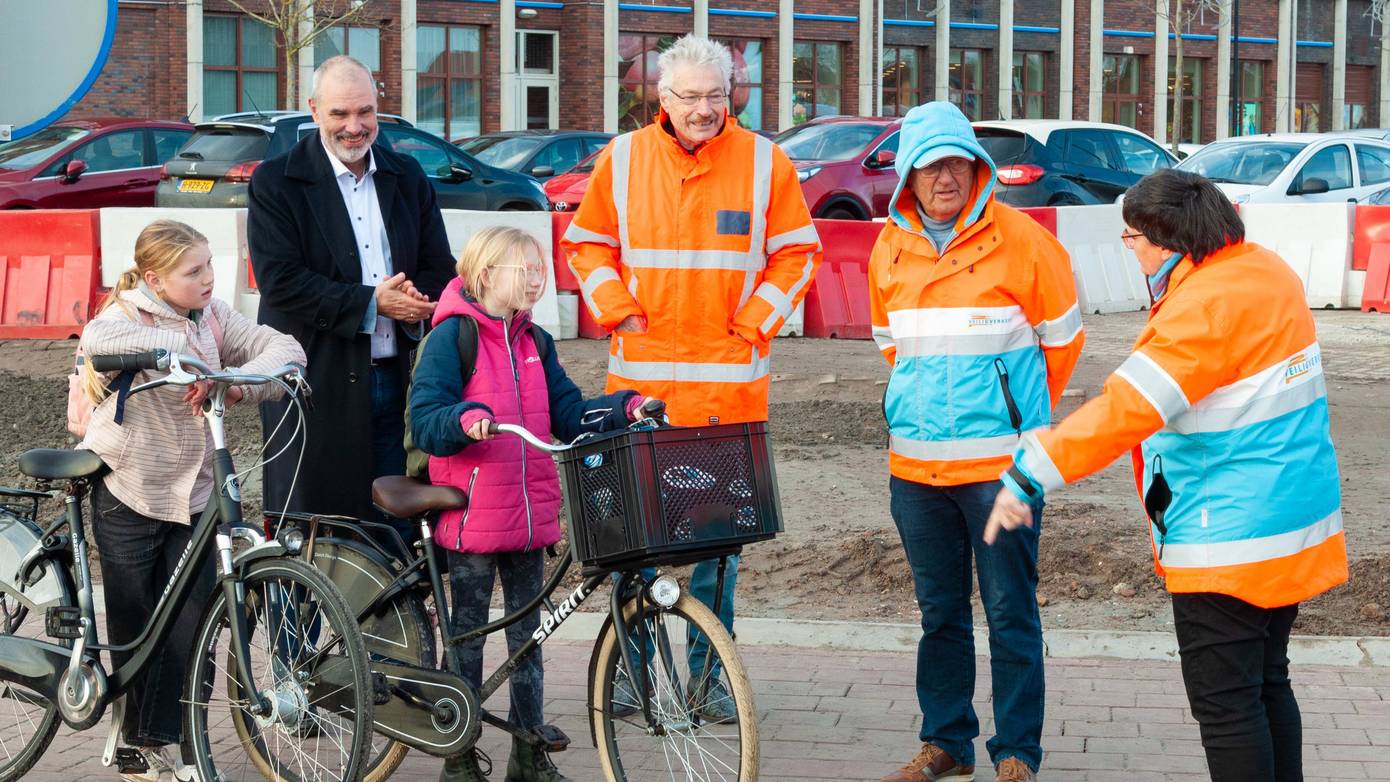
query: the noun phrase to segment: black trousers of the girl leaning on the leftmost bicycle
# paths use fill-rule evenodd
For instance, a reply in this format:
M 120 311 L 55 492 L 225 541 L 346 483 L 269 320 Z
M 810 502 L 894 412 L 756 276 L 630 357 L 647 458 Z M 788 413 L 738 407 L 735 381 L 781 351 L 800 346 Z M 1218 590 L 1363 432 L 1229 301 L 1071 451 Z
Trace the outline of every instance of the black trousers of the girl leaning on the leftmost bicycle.
M 195 519 L 196 521 L 196 519 Z M 106 594 L 107 643 L 135 640 L 154 614 L 154 606 L 193 535 L 192 526 L 143 517 L 128 508 L 97 482 L 92 490 L 92 532 L 101 563 Z M 183 672 L 193 636 L 215 583 L 213 558 L 189 561 L 196 568 L 193 590 L 179 608 L 170 631 L 145 672 L 125 693 L 121 733 L 131 746 L 161 746 L 179 740 L 183 706 Z M 131 653 L 113 651 L 111 669 Z

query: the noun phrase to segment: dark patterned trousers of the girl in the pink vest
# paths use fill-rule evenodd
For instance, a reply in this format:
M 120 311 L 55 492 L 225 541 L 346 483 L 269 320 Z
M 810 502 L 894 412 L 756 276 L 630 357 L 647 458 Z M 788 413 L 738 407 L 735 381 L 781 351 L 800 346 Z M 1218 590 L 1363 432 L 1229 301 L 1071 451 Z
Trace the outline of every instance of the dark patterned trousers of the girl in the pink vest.
M 502 576 L 502 603 L 507 614 L 516 613 L 541 593 L 545 576 L 545 553 L 516 551 L 510 554 L 466 554 L 449 551 L 449 601 L 452 615 L 449 632 L 459 635 L 488 624 L 492 585 Z M 506 629 L 507 654 L 516 654 L 535 629 L 541 626 L 537 608 Z M 486 638 L 475 638 L 453 647 L 449 658 L 456 674 L 474 688 L 482 686 L 482 644 Z M 507 679 L 512 688 L 512 708 L 507 719 L 523 728 L 545 724 L 545 669 L 541 649 L 527 654 Z

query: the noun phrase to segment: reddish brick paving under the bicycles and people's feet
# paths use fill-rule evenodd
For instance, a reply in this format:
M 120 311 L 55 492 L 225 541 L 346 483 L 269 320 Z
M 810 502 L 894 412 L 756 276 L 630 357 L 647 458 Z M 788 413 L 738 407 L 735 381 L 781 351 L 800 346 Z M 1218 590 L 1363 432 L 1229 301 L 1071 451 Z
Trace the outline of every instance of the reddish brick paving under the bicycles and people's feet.
M 599 779 L 588 742 L 585 676 L 588 644 L 552 642 L 546 649 L 546 714 L 574 744 L 555 756 L 580 782 Z M 906 653 L 844 653 L 744 646 L 758 696 L 762 779 L 880 779 L 917 749 L 915 657 Z M 489 664 L 500 658 L 500 647 Z M 986 738 L 990 668 L 979 660 L 976 708 Z M 1294 669 L 1304 713 L 1308 782 L 1390 779 L 1390 675 L 1384 668 Z M 498 703 L 500 701 L 500 703 Z M 488 706 L 505 711 L 499 693 Z M 85 733 L 61 729 L 29 772 L 36 782 L 115 779 L 100 753 L 107 722 Z M 492 779 L 505 776 L 507 744 L 484 729 L 495 758 Z M 1047 757 L 1040 779 L 1086 782 L 1187 782 L 1207 779 L 1197 725 L 1175 663 L 1073 658 L 1047 663 Z M 987 758 L 983 738 L 977 756 Z M 432 781 L 441 761 L 411 753 L 393 779 Z M 656 776 L 653 776 L 656 778 Z M 992 775 L 980 769 L 977 779 Z

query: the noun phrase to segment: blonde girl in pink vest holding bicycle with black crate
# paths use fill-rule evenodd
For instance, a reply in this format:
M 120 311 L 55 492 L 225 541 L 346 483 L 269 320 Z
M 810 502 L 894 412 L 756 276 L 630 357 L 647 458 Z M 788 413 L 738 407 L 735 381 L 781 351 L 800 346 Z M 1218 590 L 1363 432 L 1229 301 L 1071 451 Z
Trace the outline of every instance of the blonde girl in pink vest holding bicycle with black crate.
M 517 228 L 492 226 L 463 249 L 459 276 L 439 297 L 434 331 L 421 349 L 410 389 L 410 436 L 430 454 L 430 481 L 467 492 L 468 507 L 449 511 L 435 528 L 435 544 L 449 550 L 453 622 L 461 633 L 488 621 L 492 583 L 502 578 L 507 613 L 541 592 L 545 547 L 560 539 L 560 481 L 549 456 L 517 438 L 493 438 L 488 426 L 517 424 L 539 438 L 563 442 L 582 432 L 626 426 L 645 399 L 619 392 L 584 399 L 555 354 L 555 340 L 531 324 L 531 307 L 545 289 L 541 244 Z M 461 318 L 477 324 L 478 350 L 464 378 L 459 358 Z M 538 344 L 538 342 L 541 344 Z M 514 653 L 539 626 L 541 613 L 507 628 Z M 457 647 L 457 664 L 473 686 L 482 683 L 482 644 Z M 509 719 L 543 725 L 541 654 L 512 675 Z M 477 754 L 445 761 L 449 782 L 485 779 Z M 506 778 L 559 782 L 549 757 L 513 740 Z

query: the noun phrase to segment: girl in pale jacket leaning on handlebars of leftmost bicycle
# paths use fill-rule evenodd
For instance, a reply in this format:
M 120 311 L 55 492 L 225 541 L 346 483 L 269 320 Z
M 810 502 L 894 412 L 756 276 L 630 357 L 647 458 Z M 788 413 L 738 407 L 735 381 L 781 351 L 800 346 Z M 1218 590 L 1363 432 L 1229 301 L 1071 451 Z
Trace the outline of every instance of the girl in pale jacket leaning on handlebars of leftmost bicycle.
M 135 267 L 121 275 L 82 331 L 85 356 L 164 349 L 196 356 L 213 369 L 238 367 L 264 374 L 303 364 L 293 338 L 257 326 L 225 301 L 213 299 L 213 254 L 189 225 L 158 219 L 135 240 Z M 213 444 L 200 417 L 208 386 L 164 386 L 125 397 L 129 388 L 158 376 L 103 376 L 90 364 L 83 386 L 96 404 L 79 447 L 95 451 L 110 472 L 92 489 L 92 526 L 106 590 L 107 643 L 135 640 L 154 611 L 192 538 L 192 524 L 213 494 Z M 120 381 L 120 382 L 115 382 Z M 259 401 L 275 386 L 236 386 L 227 401 Z M 126 693 L 122 738 L 138 747 L 149 771 L 125 779 L 188 781 L 190 768 L 170 751 L 181 739 L 183 668 L 193 632 L 213 590 L 211 561 L 190 563 L 199 589 L 179 608 L 158 660 Z M 113 651 L 113 669 L 129 653 Z

